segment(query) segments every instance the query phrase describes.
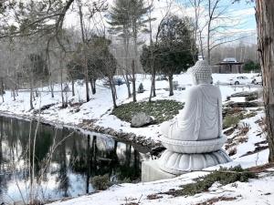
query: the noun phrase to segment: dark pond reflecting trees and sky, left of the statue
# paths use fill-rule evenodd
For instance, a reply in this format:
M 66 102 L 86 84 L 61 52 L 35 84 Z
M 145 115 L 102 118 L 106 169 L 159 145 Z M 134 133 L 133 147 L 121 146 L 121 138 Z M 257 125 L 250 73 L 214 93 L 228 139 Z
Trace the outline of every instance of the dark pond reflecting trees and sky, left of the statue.
M 94 191 L 90 179 L 99 175 L 139 180 L 149 158 L 145 148 L 97 133 L 6 117 L 0 129 L 0 204 L 76 197 Z

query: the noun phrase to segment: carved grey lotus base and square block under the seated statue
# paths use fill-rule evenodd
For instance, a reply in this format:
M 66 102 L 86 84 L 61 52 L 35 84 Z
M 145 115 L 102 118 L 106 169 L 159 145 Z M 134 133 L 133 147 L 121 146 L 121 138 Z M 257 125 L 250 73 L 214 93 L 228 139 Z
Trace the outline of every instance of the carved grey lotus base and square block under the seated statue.
M 142 181 L 170 179 L 189 171 L 224 164 L 231 159 L 221 149 L 226 136 L 201 141 L 161 138 L 166 150 L 160 159 L 142 163 Z

